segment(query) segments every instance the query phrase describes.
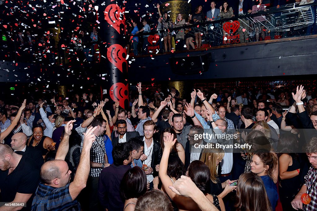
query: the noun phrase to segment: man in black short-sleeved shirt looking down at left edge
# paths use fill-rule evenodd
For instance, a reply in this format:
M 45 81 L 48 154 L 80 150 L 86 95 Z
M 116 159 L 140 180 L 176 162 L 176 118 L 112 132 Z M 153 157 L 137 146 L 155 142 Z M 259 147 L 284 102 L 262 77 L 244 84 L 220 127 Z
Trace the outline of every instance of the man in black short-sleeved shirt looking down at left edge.
M 0 210 L 30 210 L 40 180 L 40 170 L 27 156 L 18 155 L 6 144 L 0 144 L 0 201 L 24 203 L 2 206 Z

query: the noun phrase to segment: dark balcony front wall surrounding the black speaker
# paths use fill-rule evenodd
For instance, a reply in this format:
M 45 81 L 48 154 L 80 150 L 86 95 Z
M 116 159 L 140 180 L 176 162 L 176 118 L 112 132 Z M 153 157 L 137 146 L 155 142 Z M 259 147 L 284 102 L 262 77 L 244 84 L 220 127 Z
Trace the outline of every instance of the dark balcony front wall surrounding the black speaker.
M 153 78 L 156 81 L 167 81 L 316 74 L 316 49 L 317 39 L 314 38 L 139 57 L 130 64 L 129 81 L 151 81 Z M 191 59 L 192 56 L 206 53 L 211 53 L 213 60 L 208 71 L 194 75 L 172 73 L 170 57 Z

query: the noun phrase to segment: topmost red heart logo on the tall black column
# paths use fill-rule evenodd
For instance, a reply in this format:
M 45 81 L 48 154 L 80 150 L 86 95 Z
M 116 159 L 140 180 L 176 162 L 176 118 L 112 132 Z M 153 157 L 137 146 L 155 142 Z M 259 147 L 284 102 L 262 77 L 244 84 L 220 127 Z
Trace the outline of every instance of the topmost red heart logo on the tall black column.
M 112 25 L 119 34 L 121 34 L 121 32 L 122 34 L 126 34 L 126 17 L 124 12 L 125 7 L 121 9 L 117 4 L 109 4 L 105 10 L 105 20 Z

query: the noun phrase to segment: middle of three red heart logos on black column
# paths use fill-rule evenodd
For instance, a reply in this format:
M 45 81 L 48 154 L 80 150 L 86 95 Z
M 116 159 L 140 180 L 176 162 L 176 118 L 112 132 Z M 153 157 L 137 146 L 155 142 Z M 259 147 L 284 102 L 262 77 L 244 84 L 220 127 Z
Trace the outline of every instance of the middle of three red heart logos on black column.
M 113 44 L 107 49 L 107 58 L 122 73 L 123 70 L 127 72 L 126 48 L 123 48 L 119 44 Z

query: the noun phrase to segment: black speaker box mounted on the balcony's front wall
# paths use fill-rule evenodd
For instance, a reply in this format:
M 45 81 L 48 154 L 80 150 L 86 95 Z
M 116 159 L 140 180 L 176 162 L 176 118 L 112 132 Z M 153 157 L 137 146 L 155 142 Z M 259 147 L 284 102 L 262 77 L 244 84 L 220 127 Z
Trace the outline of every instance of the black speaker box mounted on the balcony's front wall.
M 169 63 L 172 73 L 192 75 L 206 72 L 209 69 L 211 60 L 211 53 L 207 53 L 195 56 L 171 57 L 169 58 Z

